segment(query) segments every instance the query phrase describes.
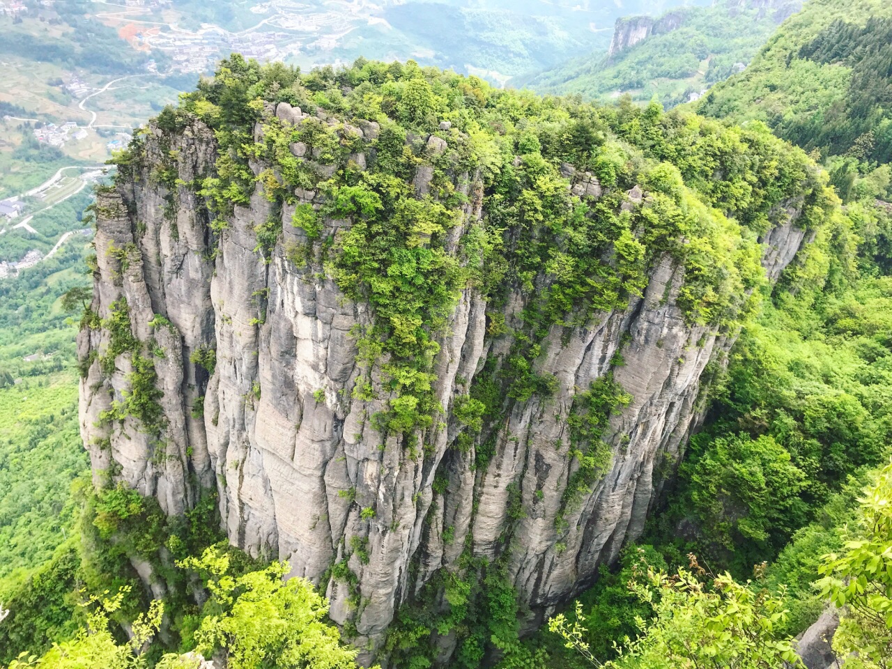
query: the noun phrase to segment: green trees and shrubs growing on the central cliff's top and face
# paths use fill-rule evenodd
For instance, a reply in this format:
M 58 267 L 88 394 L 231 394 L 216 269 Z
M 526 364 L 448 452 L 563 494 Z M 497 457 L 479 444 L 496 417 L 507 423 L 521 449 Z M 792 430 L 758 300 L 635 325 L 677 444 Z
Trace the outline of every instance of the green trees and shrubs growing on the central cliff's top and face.
M 324 114 L 292 127 L 265 112 L 265 104 L 282 102 L 318 106 Z M 324 115 L 334 118 L 326 122 Z M 569 332 L 601 312 L 625 309 L 665 258 L 684 268 L 679 306 L 685 318 L 733 334 L 751 318 L 764 290 L 756 236 L 772 226 L 781 203 L 802 202 L 797 225 L 808 232 L 830 234 L 824 231 L 843 225 L 825 178 L 805 153 L 790 150 L 764 127 L 725 128 L 681 112 L 665 114 L 656 104 L 642 110 L 630 103 L 597 108 L 543 100 L 413 62 L 360 61 L 301 75 L 233 56 L 156 123 L 173 135 L 195 120 L 211 125 L 220 146 L 216 172 L 192 185 L 208 202 L 212 234 L 223 234 L 235 204 L 249 202 L 260 184 L 273 213 L 255 230 L 255 251 L 270 261 L 284 212 L 294 208 L 291 223 L 305 245 L 301 271 L 333 278 L 349 298 L 371 307 L 372 325 L 353 333 L 367 375 L 356 392 L 376 399 L 373 375 L 383 381 L 386 395 L 378 399 L 385 409 L 371 417 L 373 425 L 383 442 L 386 435 L 401 435 L 413 456 L 440 429 L 435 335 L 468 286 L 489 301 L 490 333 L 508 337 L 509 350 L 504 359 L 489 359 L 456 402 L 464 434 L 458 447 L 465 450 L 482 438 L 484 418 L 496 423 L 513 403 L 547 399 L 556 390 L 557 380 L 536 365 L 550 328 Z M 255 140 L 258 122 L 262 136 Z M 296 143 L 311 160 L 292 153 Z M 120 155 L 119 179 L 145 161 L 144 146 L 137 137 Z M 359 168 L 359 153 L 366 169 Z M 249 161 L 260 165 L 257 176 Z M 569 186 L 581 178 L 597 183 L 598 194 L 573 194 Z M 295 192 L 301 189 L 321 192 L 325 203 L 316 209 L 300 202 Z M 465 214 L 472 202 L 482 212 L 480 221 Z M 350 225 L 333 227 L 334 219 Z M 122 268 L 129 252 L 114 251 Z M 523 296 L 524 310 L 508 324 L 498 315 L 510 291 Z M 90 319 L 89 326 L 109 332 L 103 368 L 112 371 L 120 355 L 129 355 L 134 369 L 124 400 L 104 418 L 133 415 L 158 434 L 153 364 L 145 344 L 133 338 L 127 303 L 116 302 L 108 318 L 101 324 Z M 212 351 L 195 351 L 192 362 L 210 371 Z M 622 365 L 622 357 L 612 364 Z M 259 385 L 254 395 L 260 397 Z M 314 399 L 324 396 L 317 391 Z M 631 399 L 610 375 L 577 393 L 567 457 L 578 467 L 564 508 L 606 471 L 610 450 L 602 434 L 611 414 Z M 477 467 L 489 453 L 485 443 L 475 450 Z M 434 486 L 444 494 L 449 482 L 438 478 Z M 526 514 L 516 483 L 508 486 L 508 497 L 506 546 Z M 91 526 L 100 548 L 91 555 L 120 560 L 135 554 L 178 582 L 154 556 L 169 544 L 164 537 L 180 534 L 167 527 L 152 500 L 119 487 L 100 492 L 92 504 L 87 517 L 95 518 Z M 362 508 L 360 517 L 374 522 L 375 508 Z M 444 528 L 444 537 L 454 541 L 454 530 Z M 114 549 L 102 547 L 112 540 Z M 178 541 L 180 547 L 186 543 Z M 360 563 L 368 561 L 361 537 L 351 537 L 349 546 Z M 393 656 L 426 666 L 434 648 L 419 640 L 436 631 L 455 632 L 459 666 L 469 669 L 488 652 L 510 663 L 544 657 L 545 650 L 530 651 L 518 640 L 506 557 L 488 561 L 468 551 L 458 574 L 438 574 L 401 612 L 388 640 Z M 348 584 L 359 607 L 357 577 L 347 560 L 331 574 Z M 193 605 L 178 605 L 194 623 Z M 198 629 L 193 623 L 184 618 L 177 624 L 184 640 Z M 355 634 L 351 623 L 345 633 Z M 200 637 L 194 635 L 203 643 Z

